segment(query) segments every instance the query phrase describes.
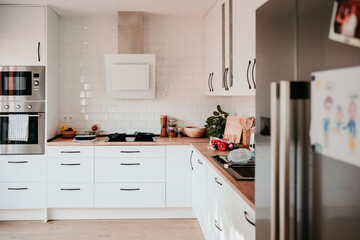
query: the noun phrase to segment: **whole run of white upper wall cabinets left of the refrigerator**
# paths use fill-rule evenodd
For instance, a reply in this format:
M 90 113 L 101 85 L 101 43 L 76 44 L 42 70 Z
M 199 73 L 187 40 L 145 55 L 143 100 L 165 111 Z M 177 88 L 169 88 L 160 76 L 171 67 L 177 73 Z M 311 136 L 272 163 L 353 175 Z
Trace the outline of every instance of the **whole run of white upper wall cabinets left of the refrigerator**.
M 205 15 L 206 95 L 255 95 L 255 14 L 264 2 L 219 0 Z

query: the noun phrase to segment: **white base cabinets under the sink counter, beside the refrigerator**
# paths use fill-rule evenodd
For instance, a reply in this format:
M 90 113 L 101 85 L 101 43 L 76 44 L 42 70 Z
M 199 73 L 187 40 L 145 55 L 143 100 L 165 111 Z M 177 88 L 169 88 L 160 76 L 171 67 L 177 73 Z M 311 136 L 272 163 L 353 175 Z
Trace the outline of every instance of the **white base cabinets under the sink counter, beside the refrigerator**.
M 192 160 L 193 209 L 205 239 L 255 240 L 255 211 L 194 149 Z

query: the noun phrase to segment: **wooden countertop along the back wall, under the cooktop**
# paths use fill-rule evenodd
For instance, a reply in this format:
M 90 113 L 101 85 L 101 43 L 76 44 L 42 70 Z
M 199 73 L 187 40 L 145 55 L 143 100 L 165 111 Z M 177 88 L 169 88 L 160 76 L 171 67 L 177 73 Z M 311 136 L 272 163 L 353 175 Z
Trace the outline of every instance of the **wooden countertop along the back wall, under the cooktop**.
M 96 142 L 73 142 L 72 138 L 59 137 L 51 142 L 48 146 L 157 146 L 157 145 L 189 145 L 190 143 L 208 143 L 207 138 L 161 138 L 155 137 L 156 142 L 105 142 L 107 137 L 98 137 Z

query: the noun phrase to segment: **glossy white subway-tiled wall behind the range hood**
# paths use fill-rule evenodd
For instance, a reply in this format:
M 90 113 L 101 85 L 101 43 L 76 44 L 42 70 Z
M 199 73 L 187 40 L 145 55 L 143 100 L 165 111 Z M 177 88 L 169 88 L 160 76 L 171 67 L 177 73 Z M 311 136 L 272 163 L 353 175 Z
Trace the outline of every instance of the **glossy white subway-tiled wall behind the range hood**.
M 161 114 L 179 119 L 181 126 L 202 126 L 217 104 L 238 115 L 254 112 L 254 98 L 204 96 L 201 17 L 145 14 L 144 53 L 155 53 L 157 61 L 154 100 L 106 96 L 104 54 L 117 53 L 116 13 L 62 17 L 60 28 L 60 121 L 74 118 L 62 125 L 81 132 L 97 123 L 107 132 L 159 133 Z

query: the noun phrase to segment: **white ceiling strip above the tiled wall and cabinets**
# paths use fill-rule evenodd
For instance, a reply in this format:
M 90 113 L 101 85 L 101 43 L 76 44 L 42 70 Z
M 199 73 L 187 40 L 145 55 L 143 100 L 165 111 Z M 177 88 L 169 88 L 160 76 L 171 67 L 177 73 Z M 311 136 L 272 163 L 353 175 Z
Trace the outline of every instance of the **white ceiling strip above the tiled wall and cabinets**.
M 116 11 L 204 15 L 215 0 L 0 0 L 0 4 L 47 4 L 60 16 Z

